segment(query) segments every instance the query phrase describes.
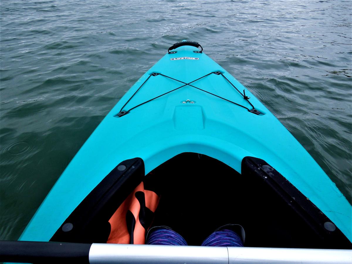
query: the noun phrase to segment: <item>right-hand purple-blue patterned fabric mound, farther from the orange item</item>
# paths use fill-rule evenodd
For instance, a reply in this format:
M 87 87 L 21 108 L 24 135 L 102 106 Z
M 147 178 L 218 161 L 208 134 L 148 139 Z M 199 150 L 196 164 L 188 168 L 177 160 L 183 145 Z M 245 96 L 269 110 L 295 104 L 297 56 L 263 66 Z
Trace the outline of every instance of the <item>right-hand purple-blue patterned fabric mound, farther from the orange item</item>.
M 243 247 L 243 242 L 234 231 L 222 229 L 209 235 L 203 241 L 202 246 Z

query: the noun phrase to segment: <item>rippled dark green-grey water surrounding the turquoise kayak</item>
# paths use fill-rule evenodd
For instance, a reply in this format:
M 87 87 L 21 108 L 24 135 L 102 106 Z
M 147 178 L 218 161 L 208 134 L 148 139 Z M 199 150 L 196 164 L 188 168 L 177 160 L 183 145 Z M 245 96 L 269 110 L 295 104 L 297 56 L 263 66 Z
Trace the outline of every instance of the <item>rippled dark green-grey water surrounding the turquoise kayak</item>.
M 351 201 L 350 0 L 1 0 L 0 16 L 0 239 L 19 237 L 103 117 L 182 39 L 249 88 Z

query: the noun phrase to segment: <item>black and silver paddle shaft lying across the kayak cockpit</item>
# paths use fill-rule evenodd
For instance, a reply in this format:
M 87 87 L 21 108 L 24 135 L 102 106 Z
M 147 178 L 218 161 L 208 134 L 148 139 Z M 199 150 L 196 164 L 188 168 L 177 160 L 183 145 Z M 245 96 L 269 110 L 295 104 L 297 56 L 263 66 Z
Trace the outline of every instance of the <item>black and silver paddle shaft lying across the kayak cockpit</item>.
M 0 241 L 0 262 L 351 263 L 351 250 Z

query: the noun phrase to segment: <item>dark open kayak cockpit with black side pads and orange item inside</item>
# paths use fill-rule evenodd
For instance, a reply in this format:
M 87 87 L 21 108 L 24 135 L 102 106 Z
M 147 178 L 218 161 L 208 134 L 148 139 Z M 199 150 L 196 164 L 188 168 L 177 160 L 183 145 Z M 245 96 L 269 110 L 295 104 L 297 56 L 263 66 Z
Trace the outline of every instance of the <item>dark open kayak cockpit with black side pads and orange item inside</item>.
M 217 159 L 181 153 L 146 176 L 140 158 L 120 163 L 50 241 L 144 244 L 168 226 L 188 245 L 238 224 L 246 247 L 350 249 L 345 235 L 265 161 L 245 157 L 241 174 Z

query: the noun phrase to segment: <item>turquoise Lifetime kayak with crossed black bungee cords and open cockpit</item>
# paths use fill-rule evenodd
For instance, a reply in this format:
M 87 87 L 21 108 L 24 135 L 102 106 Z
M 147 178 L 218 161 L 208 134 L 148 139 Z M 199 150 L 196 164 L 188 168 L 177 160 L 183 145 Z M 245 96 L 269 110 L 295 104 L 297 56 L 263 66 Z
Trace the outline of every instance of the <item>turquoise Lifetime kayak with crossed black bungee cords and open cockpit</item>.
M 164 224 L 197 245 L 230 223 L 245 246 L 351 248 L 344 195 L 249 90 L 183 41 L 102 120 L 20 240 L 144 244 Z

